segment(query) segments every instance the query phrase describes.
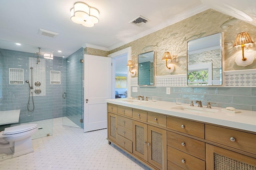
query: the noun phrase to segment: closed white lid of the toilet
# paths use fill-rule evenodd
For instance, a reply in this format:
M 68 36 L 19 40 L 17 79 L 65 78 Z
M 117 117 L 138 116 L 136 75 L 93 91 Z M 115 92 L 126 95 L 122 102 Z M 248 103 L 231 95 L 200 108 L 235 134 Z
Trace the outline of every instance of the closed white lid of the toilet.
M 16 133 L 22 133 L 37 128 L 37 124 L 24 124 L 12 127 L 6 127 L 3 131 L 3 135 L 12 135 Z

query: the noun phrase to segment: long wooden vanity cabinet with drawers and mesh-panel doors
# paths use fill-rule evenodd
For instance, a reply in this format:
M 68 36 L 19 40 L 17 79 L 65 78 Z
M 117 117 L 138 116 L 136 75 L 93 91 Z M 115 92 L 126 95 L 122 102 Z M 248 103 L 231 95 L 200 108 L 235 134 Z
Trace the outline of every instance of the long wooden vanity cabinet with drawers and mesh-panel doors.
M 256 170 L 256 134 L 108 103 L 108 141 L 152 169 Z

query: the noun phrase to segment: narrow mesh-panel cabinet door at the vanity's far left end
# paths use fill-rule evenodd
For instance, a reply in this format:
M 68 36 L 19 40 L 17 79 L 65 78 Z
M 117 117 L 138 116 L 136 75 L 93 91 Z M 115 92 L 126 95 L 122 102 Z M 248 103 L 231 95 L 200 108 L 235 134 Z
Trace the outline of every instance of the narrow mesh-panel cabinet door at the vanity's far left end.
M 108 138 L 116 142 L 117 139 L 117 118 L 116 114 L 108 112 Z M 109 141 L 110 144 L 110 141 Z

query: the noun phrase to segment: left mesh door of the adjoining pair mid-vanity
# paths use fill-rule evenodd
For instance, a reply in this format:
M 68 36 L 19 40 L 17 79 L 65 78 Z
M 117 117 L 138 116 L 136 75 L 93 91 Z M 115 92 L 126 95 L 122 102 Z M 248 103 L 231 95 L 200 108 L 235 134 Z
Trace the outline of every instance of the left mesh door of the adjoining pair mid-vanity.
M 133 153 L 148 161 L 148 125 L 138 121 L 132 122 Z

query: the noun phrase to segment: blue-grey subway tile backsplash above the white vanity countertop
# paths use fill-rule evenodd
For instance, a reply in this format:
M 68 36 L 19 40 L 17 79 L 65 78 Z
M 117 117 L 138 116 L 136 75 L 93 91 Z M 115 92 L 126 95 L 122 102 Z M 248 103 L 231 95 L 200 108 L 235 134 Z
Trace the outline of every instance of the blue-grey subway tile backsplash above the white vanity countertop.
M 212 102 L 212 106 L 232 106 L 236 109 L 256 111 L 255 87 L 171 87 L 171 94 L 166 94 L 166 87 L 137 87 L 138 92 L 131 92 L 134 98 L 138 95 L 157 96 L 157 100 L 168 102 L 175 102 L 176 98 L 181 98 L 182 103 L 186 104 L 191 100 L 201 100 L 203 107 Z

